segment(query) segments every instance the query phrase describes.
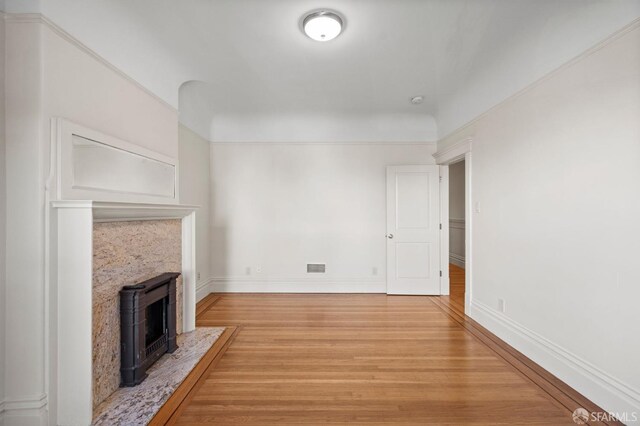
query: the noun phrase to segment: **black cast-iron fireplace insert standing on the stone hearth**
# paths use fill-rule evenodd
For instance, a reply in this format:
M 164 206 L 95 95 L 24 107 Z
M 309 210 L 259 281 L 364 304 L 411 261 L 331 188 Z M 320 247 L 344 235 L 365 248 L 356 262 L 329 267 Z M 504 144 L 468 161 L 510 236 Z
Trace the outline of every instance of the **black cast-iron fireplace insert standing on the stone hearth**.
M 176 272 L 120 291 L 121 386 L 135 386 L 147 369 L 176 344 Z

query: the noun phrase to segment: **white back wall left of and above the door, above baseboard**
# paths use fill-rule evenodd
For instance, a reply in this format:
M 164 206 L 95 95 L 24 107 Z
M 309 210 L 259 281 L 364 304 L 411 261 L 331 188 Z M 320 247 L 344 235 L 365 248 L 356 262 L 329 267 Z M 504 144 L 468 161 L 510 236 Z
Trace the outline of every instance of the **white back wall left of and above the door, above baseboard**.
M 384 292 L 386 166 L 433 164 L 434 148 L 213 144 L 214 290 Z

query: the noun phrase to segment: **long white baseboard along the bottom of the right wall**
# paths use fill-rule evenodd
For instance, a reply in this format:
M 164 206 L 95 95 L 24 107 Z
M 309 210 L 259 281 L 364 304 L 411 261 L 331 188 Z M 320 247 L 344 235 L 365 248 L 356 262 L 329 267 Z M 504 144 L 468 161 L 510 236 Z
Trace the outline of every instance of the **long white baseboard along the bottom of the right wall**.
M 602 409 L 618 413 L 618 417 L 627 413 L 626 424 L 640 424 L 637 389 L 482 302 L 471 302 L 469 316 Z

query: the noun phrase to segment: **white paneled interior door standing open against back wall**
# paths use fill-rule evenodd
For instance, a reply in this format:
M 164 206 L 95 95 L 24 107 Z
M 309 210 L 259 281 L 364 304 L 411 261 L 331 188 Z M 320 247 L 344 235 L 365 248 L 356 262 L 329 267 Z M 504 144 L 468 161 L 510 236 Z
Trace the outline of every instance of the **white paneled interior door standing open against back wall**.
M 387 293 L 440 294 L 440 167 L 387 167 Z

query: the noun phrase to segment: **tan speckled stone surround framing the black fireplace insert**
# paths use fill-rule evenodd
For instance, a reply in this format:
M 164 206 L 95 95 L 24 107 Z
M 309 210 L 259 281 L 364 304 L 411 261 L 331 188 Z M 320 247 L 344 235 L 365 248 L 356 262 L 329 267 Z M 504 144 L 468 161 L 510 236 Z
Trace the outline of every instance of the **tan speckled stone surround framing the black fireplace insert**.
M 93 406 L 120 387 L 120 290 L 180 271 L 178 219 L 93 224 Z M 182 277 L 176 283 L 176 332 L 182 332 Z

